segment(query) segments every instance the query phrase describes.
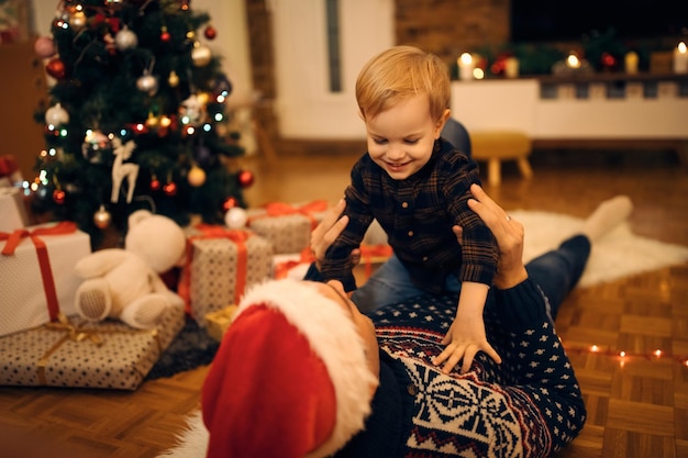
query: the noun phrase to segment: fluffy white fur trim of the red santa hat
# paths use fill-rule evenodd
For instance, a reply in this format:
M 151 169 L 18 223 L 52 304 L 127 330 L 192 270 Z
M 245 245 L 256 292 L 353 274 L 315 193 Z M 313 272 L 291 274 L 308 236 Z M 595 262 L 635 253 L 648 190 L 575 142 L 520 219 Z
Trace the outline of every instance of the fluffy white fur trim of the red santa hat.
M 368 367 L 356 325 L 341 304 L 322 295 L 308 281 L 270 280 L 249 288 L 234 320 L 253 305 L 281 312 L 325 365 L 335 391 L 336 422 L 330 438 L 307 457 L 333 454 L 364 428 L 370 414 L 370 389 L 378 383 Z

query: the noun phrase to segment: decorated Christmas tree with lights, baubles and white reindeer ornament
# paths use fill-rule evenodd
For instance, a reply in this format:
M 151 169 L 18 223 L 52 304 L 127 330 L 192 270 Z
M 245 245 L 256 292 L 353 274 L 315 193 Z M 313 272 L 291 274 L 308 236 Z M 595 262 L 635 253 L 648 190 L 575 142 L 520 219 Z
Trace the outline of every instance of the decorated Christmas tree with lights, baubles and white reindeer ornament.
M 35 51 L 53 77 L 46 149 L 33 208 L 91 235 L 126 232 L 146 209 L 180 225 L 219 223 L 245 206 L 237 135 L 228 126 L 231 82 L 207 42 L 217 35 L 190 0 L 63 0 Z

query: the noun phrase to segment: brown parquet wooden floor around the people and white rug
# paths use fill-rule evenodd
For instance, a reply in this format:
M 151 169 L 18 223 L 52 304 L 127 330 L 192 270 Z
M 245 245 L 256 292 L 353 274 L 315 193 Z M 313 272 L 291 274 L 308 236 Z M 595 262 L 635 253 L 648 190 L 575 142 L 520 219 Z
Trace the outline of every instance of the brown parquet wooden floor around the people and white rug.
M 266 164 L 245 159 L 256 182 L 252 205 L 279 200 L 334 202 L 359 153 L 351 145 L 298 143 Z M 348 150 L 348 152 L 347 152 Z M 303 152 L 309 152 L 306 154 Z M 507 210 L 585 216 L 618 193 L 635 210 L 634 233 L 688 246 L 688 171 L 668 152 L 535 152 L 534 179 L 506 165 L 488 192 Z M 561 457 L 688 457 L 688 265 L 576 290 L 557 320 L 580 379 L 589 417 Z M 600 345 L 601 353 L 590 346 Z M 621 364 L 607 350 L 647 357 Z M 652 356 L 655 349 L 665 355 Z M 207 368 L 143 384 L 135 392 L 0 388 L 0 457 L 155 457 L 174 445 L 186 414 L 198 407 Z M 251 418 L 246 418 L 251 421 Z M 22 444 L 22 451 L 13 447 Z

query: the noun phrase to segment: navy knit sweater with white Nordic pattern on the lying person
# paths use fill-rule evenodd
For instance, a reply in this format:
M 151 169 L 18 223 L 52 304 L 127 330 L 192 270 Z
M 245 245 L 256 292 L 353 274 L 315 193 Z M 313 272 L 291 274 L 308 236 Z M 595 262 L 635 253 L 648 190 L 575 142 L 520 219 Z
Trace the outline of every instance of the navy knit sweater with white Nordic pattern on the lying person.
M 379 309 L 380 387 L 366 428 L 337 457 L 547 457 L 570 443 L 586 410 L 568 357 L 530 280 L 490 290 L 485 323 L 502 358 L 443 375 L 431 359 L 456 298 L 423 295 Z

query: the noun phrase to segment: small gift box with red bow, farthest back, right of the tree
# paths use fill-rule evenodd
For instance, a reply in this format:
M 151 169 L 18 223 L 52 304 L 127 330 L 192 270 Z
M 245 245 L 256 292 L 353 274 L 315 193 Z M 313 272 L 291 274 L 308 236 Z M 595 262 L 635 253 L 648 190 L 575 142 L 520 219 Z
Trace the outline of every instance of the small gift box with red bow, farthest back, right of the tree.
M 328 202 L 322 200 L 302 205 L 273 202 L 248 211 L 248 227 L 267 238 L 275 254 L 300 253 L 310 246 L 311 231 L 326 210 Z

